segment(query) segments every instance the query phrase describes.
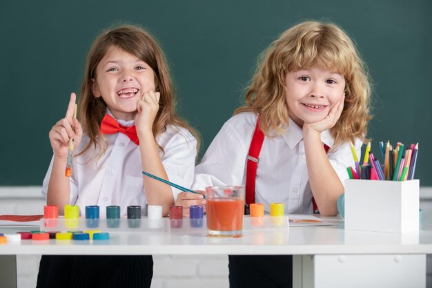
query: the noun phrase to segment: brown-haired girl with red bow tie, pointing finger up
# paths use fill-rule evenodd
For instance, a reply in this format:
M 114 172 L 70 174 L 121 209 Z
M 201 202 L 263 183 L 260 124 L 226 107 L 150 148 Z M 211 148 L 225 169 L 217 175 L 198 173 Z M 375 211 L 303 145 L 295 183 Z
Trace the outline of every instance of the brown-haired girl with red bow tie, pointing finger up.
M 168 214 L 179 191 L 141 171 L 190 186 L 197 140 L 175 114 L 175 93 L 161 48 L 136 26 L 108 30 L 88 53 L 73 119 L 72 93 L 66 117 L 50 131 L 54 156 L 43 180 L 47 203 L 161 205 Z M 82 125 L 82 126 L 81 126 Z M 68 143 L 75 139 L 72 177 L 65 177 Z M 150 287 L 151 256 L 43 256 L 37 287 Z M 96 285 L 96 286 L 95 286 Z

